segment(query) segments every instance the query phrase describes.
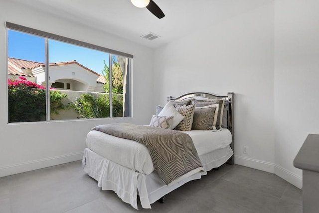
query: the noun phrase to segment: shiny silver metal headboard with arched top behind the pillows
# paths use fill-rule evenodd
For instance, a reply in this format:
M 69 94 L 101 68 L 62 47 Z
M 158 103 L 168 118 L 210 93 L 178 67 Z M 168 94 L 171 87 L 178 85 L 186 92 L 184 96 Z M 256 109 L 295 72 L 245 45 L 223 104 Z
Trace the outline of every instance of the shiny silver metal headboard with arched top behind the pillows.
M 190 99 L 190 98 L 205 98 L 205 99 L 225 99 L 225 105 L 228 104 L 228 114 L 227 114 L 227 126 L 229 131 L 231 132 L 232 135 L 232 142 L 230 144 L 231 149 L 235 153 L 234 149 L 234 92 L 228 92 L 227 95 L 216 95 L 213 93 L 207 93 L 207 92 L 192 92 L 192 93 L 187 93 L 184 95 L 181 95 L 177 98 L 174 98 L 172 96 L 167 96 L 167 100 L 174 100 L 174 101 L 182 101 L 185 99 Z M 233 156 L 227 161 L 228 164 L 234 165 L 235 160 L 234 160 L 234 154 Z

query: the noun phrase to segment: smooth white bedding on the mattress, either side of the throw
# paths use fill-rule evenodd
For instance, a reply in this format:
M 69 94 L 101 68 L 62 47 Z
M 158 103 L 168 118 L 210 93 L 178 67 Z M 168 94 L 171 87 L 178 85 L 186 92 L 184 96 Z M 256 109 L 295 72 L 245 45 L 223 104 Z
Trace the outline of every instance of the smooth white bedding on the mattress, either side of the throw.
M 192 138 L 199 157 L 224 148 L 232 141 L 228 129 L 215 132 L 191 130 L 185 133 Z M 86 146 L 100 156 L 139 173 L 149 175 L 154 171 L 148 149 L 139 142 L 92 130 L 87 135 Z

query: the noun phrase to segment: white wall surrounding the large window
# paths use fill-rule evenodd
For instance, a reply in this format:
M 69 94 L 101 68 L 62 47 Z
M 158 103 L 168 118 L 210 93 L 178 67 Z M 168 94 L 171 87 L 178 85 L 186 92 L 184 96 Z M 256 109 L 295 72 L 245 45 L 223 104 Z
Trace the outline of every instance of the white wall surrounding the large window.
M 5 21 L 133 54 L 134 118 L 7 124 Z M 81 159 L 86 134 L 96 125 L 111 122 L 149 123 L 152 103 L 145 100 L 153 94 L 153 82 L 148 80 L 154 78 L 153 72 L 150 72 L 153 69 L 151 49 L 82 26 L 80 20 L 77 23 L 69 22 L 45 11 L 8 1 L 1 1 L 0 23 L 0 177 Z

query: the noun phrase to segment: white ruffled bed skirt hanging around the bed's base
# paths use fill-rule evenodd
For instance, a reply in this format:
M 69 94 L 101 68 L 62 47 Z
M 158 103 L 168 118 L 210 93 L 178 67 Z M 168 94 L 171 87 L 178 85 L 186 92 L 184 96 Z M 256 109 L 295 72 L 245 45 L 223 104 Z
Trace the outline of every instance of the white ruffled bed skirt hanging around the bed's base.
M 230 146 L 226 146 L 199 156 L 205 171 L 183 179 L 170 187 L 160 180 L 156 171 L 150 175 L 138 173 L 101 157 L 89 148 L 84 150 L 82 165 L 84 171 L 98 181 L 98 187 L 102 190 L 114 191 L 122 201 L 131 204 L 135 209 L 138 209 L 137 195 L 139 195 L 142 208 L 151 209 L 151 204 L 161 197 L 189 181 L 200 179 L 202 175 L 207 174 L 207 171 L 226 163 L 232 155 Z

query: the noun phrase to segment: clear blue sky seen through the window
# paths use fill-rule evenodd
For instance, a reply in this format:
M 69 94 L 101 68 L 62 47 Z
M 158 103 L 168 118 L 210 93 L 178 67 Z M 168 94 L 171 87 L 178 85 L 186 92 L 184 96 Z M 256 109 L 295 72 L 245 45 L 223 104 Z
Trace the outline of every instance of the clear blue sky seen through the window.
M 44 63 L 45 40 L 39 36 L 8 30 L 8 56 Z M 49 39 L 49 63 L 72 60 L 102 74 L 103 60 L 108 65 L 109 54 Z

